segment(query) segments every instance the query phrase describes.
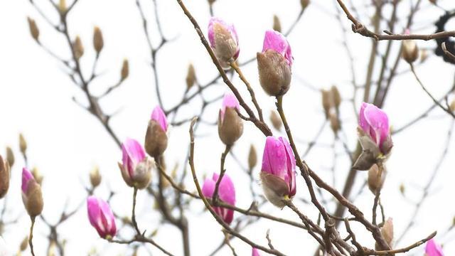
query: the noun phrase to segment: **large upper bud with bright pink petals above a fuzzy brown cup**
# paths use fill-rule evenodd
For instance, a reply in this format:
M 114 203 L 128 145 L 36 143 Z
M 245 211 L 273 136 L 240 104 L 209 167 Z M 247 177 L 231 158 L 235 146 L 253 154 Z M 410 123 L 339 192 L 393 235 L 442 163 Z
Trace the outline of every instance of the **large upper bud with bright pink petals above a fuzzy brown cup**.
M 266 31 L 262 53 L 257 53 L 259 82 L 270 96 L 284 95 L 291 84 L 291 47 L 277 31 Z

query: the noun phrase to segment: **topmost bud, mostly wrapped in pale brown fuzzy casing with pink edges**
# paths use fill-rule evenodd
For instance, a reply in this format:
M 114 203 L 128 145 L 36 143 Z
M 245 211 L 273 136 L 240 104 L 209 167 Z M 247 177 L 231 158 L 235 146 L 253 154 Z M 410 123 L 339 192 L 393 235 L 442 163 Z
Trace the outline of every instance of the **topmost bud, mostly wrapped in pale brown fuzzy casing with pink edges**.
M 229 62 L 237 60 L 240 48 L 234 25 L 226 23 L 221 18 L 210 18 L 208 41 L 223 68 L 228 69 Z

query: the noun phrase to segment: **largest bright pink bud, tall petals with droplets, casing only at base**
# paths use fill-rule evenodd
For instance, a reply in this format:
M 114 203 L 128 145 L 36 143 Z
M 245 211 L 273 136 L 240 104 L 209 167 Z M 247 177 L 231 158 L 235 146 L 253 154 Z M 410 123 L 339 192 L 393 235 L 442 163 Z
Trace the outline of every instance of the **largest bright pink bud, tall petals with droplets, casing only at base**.
M 283 208 L 284 201 L 296 194 L 295 169 L 296 159 L 287 139 L 267 137 L 260 177 L 264 194 L 274 206 Z

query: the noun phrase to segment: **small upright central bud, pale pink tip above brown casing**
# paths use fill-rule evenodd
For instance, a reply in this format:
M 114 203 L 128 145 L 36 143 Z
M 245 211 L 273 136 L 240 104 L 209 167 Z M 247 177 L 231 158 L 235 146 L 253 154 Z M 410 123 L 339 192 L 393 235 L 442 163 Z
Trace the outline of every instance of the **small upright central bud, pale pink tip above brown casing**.
M 226 93 L 218 114 L 218 135 L 226 145 L 234 144 L 243 133 L 242 119 L 235 110 L 240 110 L 237 98 L 232 93 Z

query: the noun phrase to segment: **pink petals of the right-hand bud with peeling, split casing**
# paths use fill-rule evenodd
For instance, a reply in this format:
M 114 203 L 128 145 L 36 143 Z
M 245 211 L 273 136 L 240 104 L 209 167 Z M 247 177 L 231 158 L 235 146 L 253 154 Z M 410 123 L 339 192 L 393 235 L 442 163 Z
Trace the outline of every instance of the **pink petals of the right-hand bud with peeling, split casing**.
M 363 102 L 358 124 L 379 147 L 382 154 L 390 153 L 393 144 L 390 138 L 389 118 L 384 111 L 373 104 Z

